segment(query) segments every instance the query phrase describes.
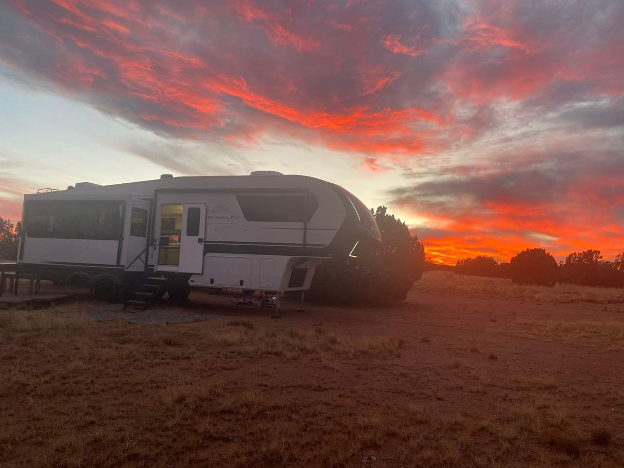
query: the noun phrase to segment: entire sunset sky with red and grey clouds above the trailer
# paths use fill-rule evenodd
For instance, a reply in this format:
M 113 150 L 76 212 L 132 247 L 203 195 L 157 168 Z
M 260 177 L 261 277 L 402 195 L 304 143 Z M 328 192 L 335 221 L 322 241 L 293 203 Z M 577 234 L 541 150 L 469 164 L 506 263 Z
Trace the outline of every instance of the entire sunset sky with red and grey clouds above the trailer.
M 259 169 L 388 206 L 436 261 L 612 260 L 624 2 L 0 0 L 0 217 Z

